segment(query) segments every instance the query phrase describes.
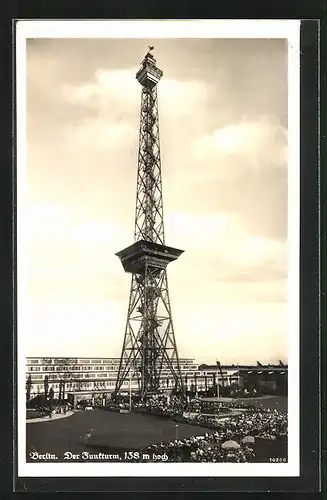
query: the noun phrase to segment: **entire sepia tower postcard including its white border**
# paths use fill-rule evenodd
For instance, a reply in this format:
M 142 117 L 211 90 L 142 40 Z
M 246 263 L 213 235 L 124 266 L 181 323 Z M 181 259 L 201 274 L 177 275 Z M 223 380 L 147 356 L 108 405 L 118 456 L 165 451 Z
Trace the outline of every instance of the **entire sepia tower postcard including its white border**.
M 20 475 L 299 475 L 298 44 L 18 23 Z

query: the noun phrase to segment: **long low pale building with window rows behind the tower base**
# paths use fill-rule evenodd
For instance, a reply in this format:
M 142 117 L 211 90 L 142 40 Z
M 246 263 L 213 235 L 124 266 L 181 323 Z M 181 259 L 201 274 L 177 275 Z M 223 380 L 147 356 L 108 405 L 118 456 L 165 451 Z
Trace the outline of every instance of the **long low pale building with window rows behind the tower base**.
M 26 359 L 26 381 L 30 376 L 30 398 L 43 394 L 45 378 L 48 377 L 48 391 L 52 388 L 54 398 L 67 399 L 73 394 L 75 399 L 83 397 L 110 397 L 115 390 L 120 358 L 58 358 L 29 357 Z M 271 381 L 274 384 L 287 383 L 287 365 L 206 365 L 194 359 L 180 358 L 180 368 L 185 388 L 202 392 L 216 385 L 237 383 L 242 386 L 247 381 Z M 163 366 L 160 379 L 162 390 L 172 390 L 175 381 L 168 367 Z M 124 381 L 122 392 L 138 390 L 136 375 Z

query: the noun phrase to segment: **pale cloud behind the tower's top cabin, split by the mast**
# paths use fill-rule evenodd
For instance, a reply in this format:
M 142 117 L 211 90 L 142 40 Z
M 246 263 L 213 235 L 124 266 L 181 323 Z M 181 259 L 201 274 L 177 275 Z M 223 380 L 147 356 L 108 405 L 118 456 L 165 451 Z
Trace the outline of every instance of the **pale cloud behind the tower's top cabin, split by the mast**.
M 137 144 L 134 144 L 133 138 L 137 137 L 135 132 L 138 130 L 141 86 L 135 79 L 135 73 L 101 69 L 96 71 L 92 82 L 62 85 L 60 93 L 68 105 L 79 105 L 86 110 L 95 111 L 86 122 L 81 123 L 85 134 L 90 133 L 91 141 L 95 139 L 93 147 L 97 146 L 96 136 L 98 135 L 98 140 L 101 141 L 101 137 L 105 137 L 108 130 L 106 144 L 113 142 L 119 147 L 120 142 L 124 141 L 125 146 L 131 143 L 136 149 Z M 168 130 L 171 135 L 175 130 L 179 130 L 179 133 L 185 136 L 185 130 L 183 133 L 180 129 L 180 122 L 185 119 L 187 122 L 184 128 L 186 127 L 189 133 L 198 131 L 201 121 L 199 123 L 199 119 L 188 119 L 190 109 L 197 109 L 198 114 L 201 114 L 201 110 L 204 113 L 210 93 L 210 86 L 204 82 L 164 78 L 160 82 L 159 93 L 160 125 L 163 131 Z M 117 129 L 114 137 L 110 134 L 112 128 Z M 129 135 L 126 135 L 127 130 Z M 71 132 L 74 134 L 74 130 Z M 165 133 L 162 136 L 165 143 Z

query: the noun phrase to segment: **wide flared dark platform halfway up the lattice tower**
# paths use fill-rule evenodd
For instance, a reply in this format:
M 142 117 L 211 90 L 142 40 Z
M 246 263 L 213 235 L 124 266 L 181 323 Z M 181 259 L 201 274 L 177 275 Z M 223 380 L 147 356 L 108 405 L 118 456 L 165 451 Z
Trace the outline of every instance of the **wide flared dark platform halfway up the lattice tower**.
M 158 270 L 166 269 L 169 262 L 178 259 L 183 252 L 178 248 L 139 240 L 116 255 L 127 273 L 143 274 L 146 264 Z

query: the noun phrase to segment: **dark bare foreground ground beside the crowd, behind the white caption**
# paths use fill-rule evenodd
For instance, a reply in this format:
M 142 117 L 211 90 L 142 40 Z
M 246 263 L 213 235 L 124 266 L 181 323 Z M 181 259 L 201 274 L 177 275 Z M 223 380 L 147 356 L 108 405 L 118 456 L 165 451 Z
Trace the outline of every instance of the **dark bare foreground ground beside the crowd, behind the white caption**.
M 262 403 L 276 407 L 275 400 L 267 399 Z M 278 404 L 282 406 L 280 401 Z M 170 419 L 138 412 L 121 414 L 103 410 L 77 411 L 67 418 L 27 424 L 26 459 L 28 462 L 43 463 L 85 462 L 82 453 L 88 452 L 90 455 L 111 454 L 114 455 L 111 457 L 112 461 L 125 461 L 128 452 L 152 443 L 199 436 L 206 432 L 212 431 L 206 427 L 184 423 L 176 426 L 176 422 Z M 283 449 L 274 449 L 276 446 L 280 445 L 257 440 L 257 461 L 266 462 L 272 456 L 286 456 L 285 443 Z M 99 458 L 93 460 L 90 455 L 87 457 L 88 462 L 102 461 Z M 108 458 L 104 458 L 104 461 L 108 461 Z

